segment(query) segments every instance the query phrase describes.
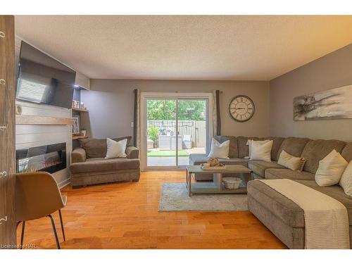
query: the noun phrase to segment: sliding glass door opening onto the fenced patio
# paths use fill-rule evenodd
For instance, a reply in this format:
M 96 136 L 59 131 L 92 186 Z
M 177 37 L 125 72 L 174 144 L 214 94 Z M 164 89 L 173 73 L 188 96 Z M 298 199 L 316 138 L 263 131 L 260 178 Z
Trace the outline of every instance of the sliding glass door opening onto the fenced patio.
M 191 153 L 206 153 L 208 98 L 157 96 L 144 99 L 145 169 L 182 168 Z M 143 161 L 142 161 L 143 163 Z M 143 167 L 143 166 L 142 166 Z

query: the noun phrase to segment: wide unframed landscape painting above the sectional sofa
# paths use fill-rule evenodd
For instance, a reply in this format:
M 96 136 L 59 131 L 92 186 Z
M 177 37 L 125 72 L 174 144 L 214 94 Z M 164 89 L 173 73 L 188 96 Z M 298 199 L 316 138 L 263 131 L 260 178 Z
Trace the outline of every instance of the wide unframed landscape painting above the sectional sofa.
M 352 118 L 352 84 L 294 98 L 294 121 Z

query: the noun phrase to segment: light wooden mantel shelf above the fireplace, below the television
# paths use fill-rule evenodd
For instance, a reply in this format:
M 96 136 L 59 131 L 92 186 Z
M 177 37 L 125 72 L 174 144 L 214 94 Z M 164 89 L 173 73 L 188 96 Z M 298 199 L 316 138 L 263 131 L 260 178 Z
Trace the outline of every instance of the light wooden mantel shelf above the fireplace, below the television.
M 73 119 L 41 115 L 16 115 L 16 125 L 73 125 Z

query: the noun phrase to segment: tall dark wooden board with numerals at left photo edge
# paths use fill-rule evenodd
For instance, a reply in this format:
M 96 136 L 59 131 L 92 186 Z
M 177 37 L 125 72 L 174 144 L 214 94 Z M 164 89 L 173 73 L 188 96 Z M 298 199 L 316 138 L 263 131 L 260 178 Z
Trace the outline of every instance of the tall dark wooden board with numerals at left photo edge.
M 0 15 L 0 244 L 16 248 L 15 18 Z

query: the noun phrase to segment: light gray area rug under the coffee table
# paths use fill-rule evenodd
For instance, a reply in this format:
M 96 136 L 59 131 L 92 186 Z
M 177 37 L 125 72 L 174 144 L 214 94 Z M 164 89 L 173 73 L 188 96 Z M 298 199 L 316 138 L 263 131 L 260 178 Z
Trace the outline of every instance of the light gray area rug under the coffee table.
M 159 212 L 175 211 L 244 211 L 246 194 L 193 194 L 188 196 L 185 183 L 164 183 Z

